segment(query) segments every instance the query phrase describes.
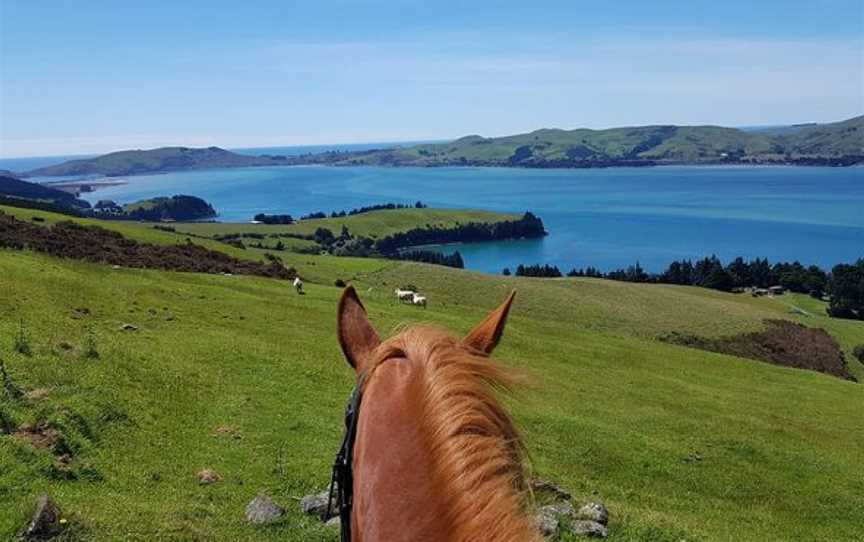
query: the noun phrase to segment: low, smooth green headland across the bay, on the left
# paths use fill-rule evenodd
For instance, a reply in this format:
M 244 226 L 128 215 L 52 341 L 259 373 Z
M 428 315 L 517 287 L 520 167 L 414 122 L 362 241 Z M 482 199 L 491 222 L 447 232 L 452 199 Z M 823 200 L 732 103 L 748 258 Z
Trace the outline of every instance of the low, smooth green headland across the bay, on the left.
M 34 169 L 26 175 L 31 177 L 119 176 L 189 169 L 284 165 L 285 163 L 284 156 L 247 156 L 219 147 L 204 149 L 162 147 L 152 150 L 119 151 L 96 158 L 70 160 L 62 164 Z

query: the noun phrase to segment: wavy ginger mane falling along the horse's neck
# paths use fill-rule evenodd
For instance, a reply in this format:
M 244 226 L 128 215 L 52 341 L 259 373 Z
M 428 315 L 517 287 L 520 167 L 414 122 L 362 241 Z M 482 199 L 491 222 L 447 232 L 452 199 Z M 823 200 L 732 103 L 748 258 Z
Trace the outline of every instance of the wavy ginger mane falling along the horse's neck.
M 421 434 L 449 540 L 542 540 L 525 511 L 522 440 L 497 398 L 517 378 L 434 327 L 409 327 L 376 354 L 379 363 L 405 357 L 421 371 Z

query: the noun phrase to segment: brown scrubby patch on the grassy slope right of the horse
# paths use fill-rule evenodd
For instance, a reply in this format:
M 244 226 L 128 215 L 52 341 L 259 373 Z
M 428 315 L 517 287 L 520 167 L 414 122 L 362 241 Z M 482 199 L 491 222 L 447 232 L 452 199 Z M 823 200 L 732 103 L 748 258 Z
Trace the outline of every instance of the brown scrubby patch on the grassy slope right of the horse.
M 766 320 L 764 331 L 709 339 L 671 333 L 661 340 L 775 365 L 808 369 L 856 381 L 846 366 L 840 345 L 824 329 L 788 320 Z

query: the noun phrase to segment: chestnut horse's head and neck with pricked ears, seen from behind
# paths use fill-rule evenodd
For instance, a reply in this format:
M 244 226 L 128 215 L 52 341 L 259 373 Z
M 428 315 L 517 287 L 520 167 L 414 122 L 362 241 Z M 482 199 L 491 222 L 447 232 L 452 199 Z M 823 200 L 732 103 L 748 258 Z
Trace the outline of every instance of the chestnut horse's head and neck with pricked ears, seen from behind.
M 542 540 L 519 435 L 495 397 L 513 377 L 489 360 L 514 294 L 461 341 L 416 326 L 383 342 L 354 288 L 342 294 L 339 342 L 362 387 L 352 542 Z

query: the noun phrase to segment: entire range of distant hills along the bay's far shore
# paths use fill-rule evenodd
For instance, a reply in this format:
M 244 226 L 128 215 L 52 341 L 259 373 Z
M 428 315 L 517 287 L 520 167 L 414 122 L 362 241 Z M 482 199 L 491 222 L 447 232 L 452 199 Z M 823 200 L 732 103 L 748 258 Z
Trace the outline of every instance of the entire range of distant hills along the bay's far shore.
M 667 164 L 853 165 L 864 162 L 864 116 L 830 124 L 738 129 L 637 126 L 544 128 L 527 134 L 462 137 L 363 151 L 246 156 L 208 147 L 120 151 L 27 172 L 29 176 L 138 175 L 166 171 L 301 165 L 609 167 Z

